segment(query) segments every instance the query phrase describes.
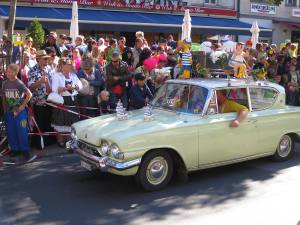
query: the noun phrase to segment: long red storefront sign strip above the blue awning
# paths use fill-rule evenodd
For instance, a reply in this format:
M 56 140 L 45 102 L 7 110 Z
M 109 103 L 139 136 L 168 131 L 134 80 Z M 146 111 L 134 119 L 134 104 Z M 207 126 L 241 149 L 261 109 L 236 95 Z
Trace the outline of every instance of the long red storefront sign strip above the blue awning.
M 19 0 L 18 2 L 29 2 L 29 3 L 44 3 L 44 4 L 72 4 L 72 0 Z M 200 7 L 185 7 L 185 6 L 167 6 L 162 4 L 149 4 L 149 3 L 127 3 L 126 0 L 78 0 L 78 4 L 82 6 L 100 6 L 107 8 L 130 8 L 130 9 L 141 9 L 141 10 L 152 10 L 152 11 L 177 11 L 183 12 L 189 9 L 191 13 L 201 13 L 207 15 L 224 15 L 224 16 L 236 16 L 235 10 L 227 9 L 216 9 L 216 8 L 200 8 Z M 154 1 L 153 1 L 154 2 Z

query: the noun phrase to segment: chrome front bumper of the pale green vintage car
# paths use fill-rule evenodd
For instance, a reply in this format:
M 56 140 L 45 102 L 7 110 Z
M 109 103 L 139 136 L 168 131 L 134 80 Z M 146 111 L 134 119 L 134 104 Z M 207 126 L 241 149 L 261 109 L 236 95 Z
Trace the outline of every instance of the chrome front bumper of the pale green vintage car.
M 92 161 L 92 163 L 99 165 L 99 168 L 102 170 L 107 169 L 107 168 L 100 167 L 100 162 L 103 163 L 103 160 L 104 160 L 106 167 L 110 167 L 110 168 L 118 170 L 118 171 L 123 171 L 123 170 L 130 169 L 132 167 L 138 166 L 138 165 L 140 165 L 140 163 L 142 161 L 142 158 L 137 158 L 137 159 L 130 160 L 127 162 L 118 162 L 118 161 L 115 161 L 108 157 L 97 157 L 94 155 L 90 155 L 90 154 L 82 151 L 80 148 L 76 148 L 76 149 L 74 149 L 74 151 L 77 152 L 80 156 L 86 158 L 87 160 Z

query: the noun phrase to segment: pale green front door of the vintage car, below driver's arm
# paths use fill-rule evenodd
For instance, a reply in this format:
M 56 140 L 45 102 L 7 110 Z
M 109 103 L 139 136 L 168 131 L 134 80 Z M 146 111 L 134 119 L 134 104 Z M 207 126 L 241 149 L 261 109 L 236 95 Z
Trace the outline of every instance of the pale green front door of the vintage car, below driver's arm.
M 227 98 L 233 98 L 233 90 L 227 89 Z M 236 101 L 249 107 L 248 90 L 237 90 L 243 97 L 236 97 Z M 257 117 L 249 112 L 248 117 L 238 128 L 231 128 L 230 123 L 237 117 L 237 113 L 220 113 L 216 93 L 211 98 L 205 123 L 199 128 L 199 166 L 216 164 L 251 156 L 252 149 L 257 142 Z

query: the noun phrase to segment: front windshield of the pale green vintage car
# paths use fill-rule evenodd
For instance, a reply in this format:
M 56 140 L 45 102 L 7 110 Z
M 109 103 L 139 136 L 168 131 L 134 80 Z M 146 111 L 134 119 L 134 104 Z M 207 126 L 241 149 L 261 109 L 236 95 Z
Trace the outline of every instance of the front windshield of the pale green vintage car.
M 187 84 L 165 84 L 152 101 L 154 107 L 175 112 L 201 114 L 207 99 L 208 90 Z

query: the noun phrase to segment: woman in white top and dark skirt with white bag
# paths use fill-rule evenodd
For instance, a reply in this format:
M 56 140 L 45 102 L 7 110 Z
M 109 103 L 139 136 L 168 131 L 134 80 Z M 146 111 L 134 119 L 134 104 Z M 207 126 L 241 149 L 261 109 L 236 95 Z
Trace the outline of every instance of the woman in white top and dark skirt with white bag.
M 52 91 L 60 94 L 64 99 L 64 105 L 76 106 L 78 90 L 82 84 L 77 75 L 73 73 L 72 61 L 69 58 L 61 58 L 58 62 L 57 73 L 52 78 Z M 76 111 L 76 108 L 69 108 Z M 71 132 L 71 125 L 79 121 L 79 116 L 61 109 L 53 109 L 52 126 L 57 132 Z M 58 135 L 58 145 L 64 147 L 64 136 Z

